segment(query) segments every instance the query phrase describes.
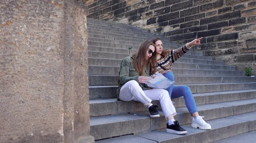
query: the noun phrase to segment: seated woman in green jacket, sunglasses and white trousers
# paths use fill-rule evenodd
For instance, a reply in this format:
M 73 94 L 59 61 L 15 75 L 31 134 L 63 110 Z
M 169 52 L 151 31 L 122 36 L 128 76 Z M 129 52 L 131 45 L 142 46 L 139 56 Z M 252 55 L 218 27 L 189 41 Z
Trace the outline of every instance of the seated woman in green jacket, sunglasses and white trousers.
M 176 110 L 168 91 L 152 89 L 145 84 L 145 81 L 150 79 L 148 76 L 157 70 L 155 51 L 156 46 L 150 40 L 145 40 L 136 53 L 122 60 L 116 91 L 117 97 L 122 101 L 140 101 L 148 107 L 151 118 L 160 117 L 157 106 L 151 104 L 151 101 L 159 100 L 165 118 L 168 120 L 166 132 L 186 134 L 187 131 L 180 127 L 178 121 L 174 120 L 173 116 L 176 115 Z

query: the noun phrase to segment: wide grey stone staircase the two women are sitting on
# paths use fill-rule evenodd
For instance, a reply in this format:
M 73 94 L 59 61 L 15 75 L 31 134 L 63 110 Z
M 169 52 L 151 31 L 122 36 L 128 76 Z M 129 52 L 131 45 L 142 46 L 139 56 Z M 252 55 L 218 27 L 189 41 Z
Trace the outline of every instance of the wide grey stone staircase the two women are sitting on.
M 160 118 L 150 118 L 143 104 L 116 100 L 121 60 L 134 53 L 145 39 L 155 36 L 131 25 L 90 18 L 87 29 L 90 132 L 96 143 L 210 143 L 256 130 L 256 78 L 190 50 L 173 64 L 175 85 L 191 88 L 199 115 L 205 116 L 212 129 L 190 127 L 192 119 L 184 99 L 176 98 L 172 99 L 177 111 L 175 120 L 188 133 L 165 132 L 166 119 L 161 110 Z M 163 38 L 163 44 L 164 48 L 181 47 L 167 38 Z

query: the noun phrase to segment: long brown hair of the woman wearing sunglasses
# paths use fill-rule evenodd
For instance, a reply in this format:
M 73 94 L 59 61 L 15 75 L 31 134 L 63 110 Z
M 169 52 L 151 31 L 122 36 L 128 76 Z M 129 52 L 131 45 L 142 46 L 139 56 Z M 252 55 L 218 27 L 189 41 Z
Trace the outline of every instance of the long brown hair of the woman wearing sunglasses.
M 140 48 L 132 56 L 134 57 L 134 68 L 144 76 L 143 68 L 147 66 L 147 70 L 150 70 L 150 75 L 154 74 L 157 70 L 157 56 L 152 53 L 150 58 L 147 58 L 148 47 L 154 46 L 156 52 L 157 48 L 150 40 L 145 40 L 141 43 Z M 149 69 L 148 69 L 149 67 Z

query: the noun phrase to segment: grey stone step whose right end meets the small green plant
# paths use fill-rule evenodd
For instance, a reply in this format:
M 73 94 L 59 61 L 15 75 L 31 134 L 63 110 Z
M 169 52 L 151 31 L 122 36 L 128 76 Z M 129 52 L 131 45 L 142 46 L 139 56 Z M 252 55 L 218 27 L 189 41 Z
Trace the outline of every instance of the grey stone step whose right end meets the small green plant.
M 120 67 L 89 66 L 88 75 L 119 75 Z M 175 76 L 245 76 L 244 71 L 232 70 L 198 70 L 198 69 L 175 69 L 172 68 Z

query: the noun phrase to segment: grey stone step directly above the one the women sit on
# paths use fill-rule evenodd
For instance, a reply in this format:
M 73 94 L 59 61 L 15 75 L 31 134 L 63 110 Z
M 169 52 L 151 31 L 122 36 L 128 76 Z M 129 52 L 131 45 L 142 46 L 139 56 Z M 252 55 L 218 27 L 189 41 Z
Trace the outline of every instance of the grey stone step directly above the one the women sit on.
M 244 83 L 216 83 L 216 84 L 175 84 L 190 87 L 192 93 L 210 93 L 232 90 L 256 89 L 256 82 Z M 116 98 L 117 86 L 89 86 L 90 99 Z

